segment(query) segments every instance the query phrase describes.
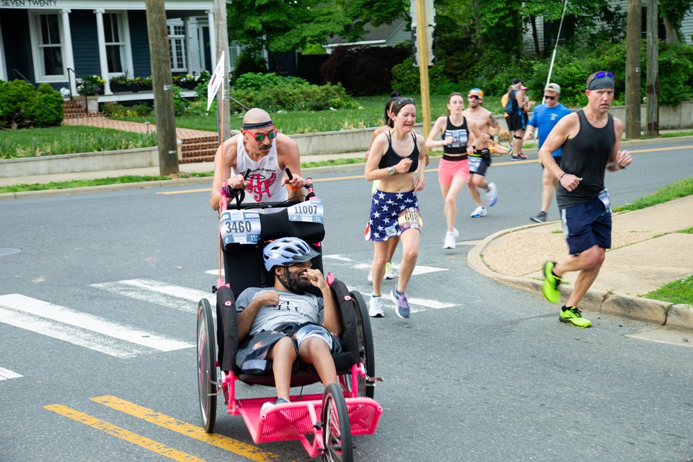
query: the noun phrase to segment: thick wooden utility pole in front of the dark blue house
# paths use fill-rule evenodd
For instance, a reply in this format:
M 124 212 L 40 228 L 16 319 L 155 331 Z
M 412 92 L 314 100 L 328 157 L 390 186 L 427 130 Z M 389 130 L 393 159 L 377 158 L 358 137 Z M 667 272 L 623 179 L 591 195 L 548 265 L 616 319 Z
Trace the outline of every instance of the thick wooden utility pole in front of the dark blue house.
M 173 78 L 168 51 L 168 30 L 164 0 L 145 0 L 149 54 L 152 60 L 154 112 L 159 142 L 159 172 L 170 175 L 178 172 L 178 151 L 173 108 Z

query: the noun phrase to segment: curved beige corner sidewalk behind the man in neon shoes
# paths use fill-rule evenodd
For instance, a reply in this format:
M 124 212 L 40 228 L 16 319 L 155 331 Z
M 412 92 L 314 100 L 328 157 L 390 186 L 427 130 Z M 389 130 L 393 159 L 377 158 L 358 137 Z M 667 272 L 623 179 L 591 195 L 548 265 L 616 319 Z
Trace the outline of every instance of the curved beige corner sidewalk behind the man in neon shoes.
M 585 317 L 600 312 L 693 331 L 693 305 L 642 298 L 693 272 L 693 234 L 676 233 L 691 227 L 693 196 L 615 213 L 612 248 L 606 252 L 602 270 L 580 304 L 586 310 Z M 567 255 L 561 222 L 550 222 L 489 236 L 469 252 L 467 264 L 479 274 L 543 299 L 543 264 Z M 565 275 L 560 286 L 563 301 L 576 277 L 577 273 Z

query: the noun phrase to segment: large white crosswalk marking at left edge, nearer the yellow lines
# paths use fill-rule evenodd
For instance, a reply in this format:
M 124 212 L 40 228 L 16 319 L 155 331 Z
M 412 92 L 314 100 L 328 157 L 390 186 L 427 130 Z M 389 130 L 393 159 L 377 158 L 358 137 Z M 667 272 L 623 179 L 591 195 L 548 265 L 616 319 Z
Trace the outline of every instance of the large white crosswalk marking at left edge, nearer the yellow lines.
M 195 346 L 21 294 L 0 295 L 0 322 L 121 358 Z

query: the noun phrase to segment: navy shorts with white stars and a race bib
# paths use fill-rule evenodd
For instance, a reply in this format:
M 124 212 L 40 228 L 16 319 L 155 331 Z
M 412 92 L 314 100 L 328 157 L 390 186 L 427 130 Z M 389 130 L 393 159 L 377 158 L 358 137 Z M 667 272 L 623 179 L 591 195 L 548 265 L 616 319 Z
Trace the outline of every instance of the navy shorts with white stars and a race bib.
M 400 236 L 407 229 L 418 229 L 421 232 L 422 227 L 419 199 L 413 190 L 408 193 L 376 190 L 364 233 L 366 240 L 388 240 Z

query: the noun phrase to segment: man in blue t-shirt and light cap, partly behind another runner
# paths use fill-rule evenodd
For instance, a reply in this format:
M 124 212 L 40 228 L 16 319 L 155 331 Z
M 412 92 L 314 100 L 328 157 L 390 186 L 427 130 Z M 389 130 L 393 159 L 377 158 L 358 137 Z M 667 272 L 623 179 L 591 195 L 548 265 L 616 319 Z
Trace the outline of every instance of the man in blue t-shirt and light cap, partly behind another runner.
M 570 114 L 570 109 L 559 103 L 559 97 L 561 96 L 561 87 L 556 83 L 550 83 L 544 88 L 544 103 L 538 105 L 534 109 L 534 114 L 532 115 L 532 120 L 527 124 L 527 133 L 525 134 L 525 141 L 532 139 L 534 136 L 534 128 L 538 130 L 539 135 L 539 148 L 543 145 L 544 140 L 549 136 L 553 127 L 556 123 L 561 120 L 561 118 Z M 561 148 L 558 148 L 551 153 L 554 157 L 556 163 L 561 165 Z M 541 211 L 538 215 L 531 217 L 530 220 L 537 223 L 543 223 L 546 221 L 546 212 L 551 204 L 551 199 L 554 197 L 554 191 L 556 190 L 556 185 L 558 184 L 558 179 L 551 175 L 551 172 L 546 170 L 542 165 L 543 173 L 541 176 Z

